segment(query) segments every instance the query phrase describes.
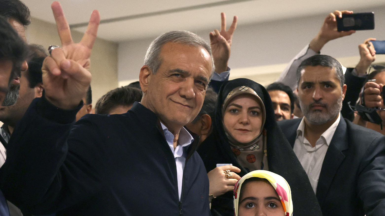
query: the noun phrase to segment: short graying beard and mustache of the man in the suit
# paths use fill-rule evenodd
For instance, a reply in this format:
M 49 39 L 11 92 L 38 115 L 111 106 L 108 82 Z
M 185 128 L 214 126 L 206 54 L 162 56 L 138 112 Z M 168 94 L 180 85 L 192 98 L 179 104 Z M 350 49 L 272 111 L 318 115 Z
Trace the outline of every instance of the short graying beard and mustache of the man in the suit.
M 299 101 L 300 101 L 300 106 L 301 106 L 301 110 L 303 112 L 303 115 L 306 117 L 306 119 L 308 121 L 310 121 L 311 124 L 314 124 L 314 125 L 322 125 L 322 124 L 325 124 L 326 122 L 332 120 L 333 118 L 335 118 L 338 115 L 338 113 L 340 113 L 341 108 L 342 108 L 342 95 L 340 98 L 338 98 L 336 103 L 332 103 L 330 106 L 326 103 L 322 103 L 322 102 L 318 102 L 318 101 L 315 101 L 315 102 L 311 103 L 310 105 L 306 106 L 301 100 L 299 100 Z M 323 112 L 318 111 L 318 110 L 311 111 L 310 110 L 311 106 L 314 104 L 319 104 L 319 105 L 325 106 L 326 112 L 323 113 Z

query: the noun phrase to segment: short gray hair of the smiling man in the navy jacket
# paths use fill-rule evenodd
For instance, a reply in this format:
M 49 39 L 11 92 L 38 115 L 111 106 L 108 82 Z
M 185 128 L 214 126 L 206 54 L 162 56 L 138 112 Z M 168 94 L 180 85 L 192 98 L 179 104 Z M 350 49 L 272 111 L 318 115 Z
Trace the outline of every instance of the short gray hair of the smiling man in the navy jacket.
M 214 59 L 213 55 L 211 53 L 211 47 L 210 45 L 203 40 L 203 38 L 199 37 L 198 35 L 188 32 L 188 31 L 171 31 L 166 32 L 162 34 L 161 36 L 157 37 L 149 46 L 147 49 L 146 56 L 144 57 L 144 65 L 148 65 L 149 68 L 152 70 L 152 73 L 156 73 L 156 71 L 161 66 L 161 49 L 163 45 L 165 45 L 168 42 L 172 43 L 180 43 L 183 45 L 188 46 L 194 46 L 194 47 L 203 47 L 207 50 L 207 52 L 211 56 L 211 65 L 213 67 L 213 70 L 211 71 L 210 80 L 213 77 L 213 73 L 215 70 L 214 67 Z

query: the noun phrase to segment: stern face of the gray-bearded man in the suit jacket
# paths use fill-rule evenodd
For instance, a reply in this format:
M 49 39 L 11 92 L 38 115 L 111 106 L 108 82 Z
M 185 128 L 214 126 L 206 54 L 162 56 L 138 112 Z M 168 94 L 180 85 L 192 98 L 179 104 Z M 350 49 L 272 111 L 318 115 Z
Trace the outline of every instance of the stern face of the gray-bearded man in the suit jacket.
M 335 120 L 346 92 L 346 85 L 341 88 L 335 69 L 307 66 L 301 73 L 298 97 L 306 120 L 314 125 Z

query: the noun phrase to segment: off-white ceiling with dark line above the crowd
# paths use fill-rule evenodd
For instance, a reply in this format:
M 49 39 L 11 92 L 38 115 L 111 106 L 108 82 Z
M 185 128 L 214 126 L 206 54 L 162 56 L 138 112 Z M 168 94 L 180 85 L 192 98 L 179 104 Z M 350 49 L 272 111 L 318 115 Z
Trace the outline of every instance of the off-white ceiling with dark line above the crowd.
M 52 0 L 22 0 L 31 10 L 32 17 L 54 23 L 50 8 Z M 164 10 L 191 7 L 226 0 L 62 0 L 67 21 L 70 25 L 88 22 L 92 10 L 99 10 L 102 20 L 130 15 L 161 12 Z M 207 7 L 183 12 L 167 13 L 99 26 L 98 37 L 114 42 L 153 38 L 171 30 L 197 32 L 220 28 L 220 13 L 227 15 L 228 26 L 232 17 L 238 16 L 238 25 L 269 22 L 294 17 L 305 17 L 330 13 L 334 10 L 353 10 L 385 5 L 384 0 L 232 0 L 226 5 Z M 74 28 L 84 32 L 85 27 Z

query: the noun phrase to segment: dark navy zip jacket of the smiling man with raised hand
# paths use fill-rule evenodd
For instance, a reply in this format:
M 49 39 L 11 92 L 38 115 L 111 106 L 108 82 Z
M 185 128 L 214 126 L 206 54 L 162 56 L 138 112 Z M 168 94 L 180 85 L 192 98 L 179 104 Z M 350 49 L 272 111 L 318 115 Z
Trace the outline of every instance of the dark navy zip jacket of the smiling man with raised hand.
M 179 202 L 174 155 L 157 116 L 139 103 L 122 115 L 86 115 L 37 98 L 0 170 L 8 200 L 35 215 L 209 215 L 209 182 L 187 152 Z

